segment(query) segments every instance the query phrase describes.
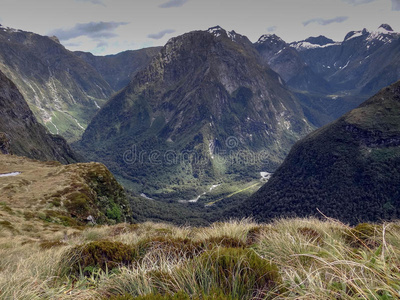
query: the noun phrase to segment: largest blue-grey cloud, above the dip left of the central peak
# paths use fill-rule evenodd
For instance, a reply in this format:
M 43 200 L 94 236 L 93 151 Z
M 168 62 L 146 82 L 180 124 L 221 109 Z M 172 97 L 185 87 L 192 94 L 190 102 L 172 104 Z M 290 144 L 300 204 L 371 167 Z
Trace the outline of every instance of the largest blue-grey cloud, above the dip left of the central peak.
M 74 27 L 64 30 L 62 28 L 55 29 L 50 35 L 57 36 L 60 40 L 66 41 L 79 36 L 87 36 L 92 39 L 111 38 L 117 36 L 114 30 L 126 22 L 90 22 L 78 23 Z

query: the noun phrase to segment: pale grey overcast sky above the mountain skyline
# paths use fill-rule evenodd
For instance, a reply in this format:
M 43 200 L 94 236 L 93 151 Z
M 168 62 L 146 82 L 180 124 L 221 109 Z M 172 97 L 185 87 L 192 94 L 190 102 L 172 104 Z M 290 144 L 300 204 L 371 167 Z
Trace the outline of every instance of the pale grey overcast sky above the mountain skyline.
M 70 50 L 97 55 L 162 46 L 171 37 L 220 25 L 251 41 L 287 42 L 388 23 L 400 31 L 400 0 L 0 0 L 6 27 L 56 35 Z

